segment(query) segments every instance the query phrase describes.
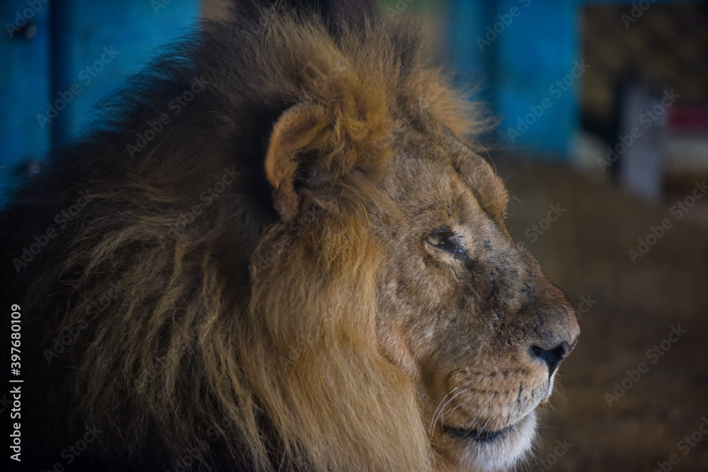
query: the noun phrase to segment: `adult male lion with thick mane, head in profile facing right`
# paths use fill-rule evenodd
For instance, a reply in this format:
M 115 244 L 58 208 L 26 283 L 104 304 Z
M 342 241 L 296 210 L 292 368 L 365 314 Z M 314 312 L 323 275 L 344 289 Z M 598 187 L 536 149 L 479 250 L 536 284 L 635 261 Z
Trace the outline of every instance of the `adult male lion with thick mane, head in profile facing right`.
M 523 460 L 578 324 L 422 44 L 282 6 L 203 23 L 16 192 L 23 465 Z

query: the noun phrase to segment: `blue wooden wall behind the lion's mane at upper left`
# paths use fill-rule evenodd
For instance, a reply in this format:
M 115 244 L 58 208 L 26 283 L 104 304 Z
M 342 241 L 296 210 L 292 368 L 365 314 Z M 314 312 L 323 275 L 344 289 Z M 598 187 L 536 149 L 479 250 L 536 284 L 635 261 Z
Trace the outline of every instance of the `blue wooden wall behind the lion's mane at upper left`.
M 2 2 L 0 192 L 53 146 L 81 137 L 98 100 L 147 64 L 160 45 L 186 33 L 198 15 L 197 0 Z M 25 18 L 36 26 L 31 39 L 14 28 Z

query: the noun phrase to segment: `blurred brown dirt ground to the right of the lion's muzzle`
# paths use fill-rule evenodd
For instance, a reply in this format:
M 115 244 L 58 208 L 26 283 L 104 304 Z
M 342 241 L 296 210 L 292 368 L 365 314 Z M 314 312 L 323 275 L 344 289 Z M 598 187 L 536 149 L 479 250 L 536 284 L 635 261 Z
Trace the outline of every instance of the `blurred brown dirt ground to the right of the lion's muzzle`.
M 527 468 L 651 472 L 666 463 L 664 471 L 708 471 L 708 434 L 699 430 L 708 418 L 708 231 L 675 220 L 671 202 L 650 207 L 557 166 L 496 166 L 518 198 L 510 205 L 512 236 L 528 244 L 576 309 L 583 296 L 596 301 L 581 313 L 580 343 L 556 377 L 543 444 Z M 532 243 L 526 229 L 556 204 L 566 212 Z M 673 227 L 632 263 L 637 238 L 665 218 Z M 676 343 L 666 341 L 672 326 L 687 331 Z M 662 341 L 666 352 L 648 357 Z M 624 380 L 630 388 L 608 406 L 605 393 L 614 395 L 615 382 L 640 362 L 648 370 Z M 708 421 L 702 427 L 708 432 Z M 691 434 L 692 447 L 680 443 Z M 556 440 L 572 446 L 555 455 Z

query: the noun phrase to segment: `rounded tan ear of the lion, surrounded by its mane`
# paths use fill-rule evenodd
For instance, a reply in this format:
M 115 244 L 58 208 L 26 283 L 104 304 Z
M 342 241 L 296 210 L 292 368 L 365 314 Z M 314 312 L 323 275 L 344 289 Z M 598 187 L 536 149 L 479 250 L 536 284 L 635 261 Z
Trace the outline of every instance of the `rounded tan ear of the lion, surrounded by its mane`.
M 295 188 L 298 156 L 316 146 L 326 126 L 326 111 L 321 105 L 299 103 L 288 108 L 273 126 L 265 154 L 265 176 L 273 185 L 275 209 L 284 221 L 297 214 L 299 199 Z

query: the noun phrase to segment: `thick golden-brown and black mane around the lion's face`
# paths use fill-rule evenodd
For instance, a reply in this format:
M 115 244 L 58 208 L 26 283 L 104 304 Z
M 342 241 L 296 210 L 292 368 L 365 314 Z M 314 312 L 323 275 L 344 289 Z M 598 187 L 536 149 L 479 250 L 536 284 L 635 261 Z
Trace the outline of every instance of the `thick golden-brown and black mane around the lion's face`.
M 300 103 L 323 107 L 287 138 L 309 171 L 284 219 L 263 161 Z M 2 214 L 28 455 L 51 466 L 96 427 L 82 459 L 118 469 L 430 469 L 415 387 L 377 347 L 367 208 L 387 205 L 396 115 L 478 123 L 414 28 L 278 7 L 203 23 L 104 107 Z

